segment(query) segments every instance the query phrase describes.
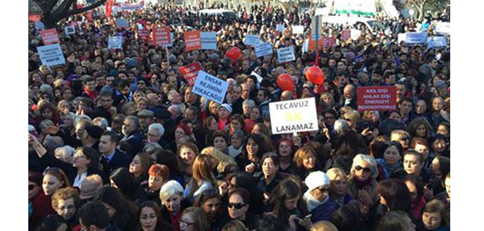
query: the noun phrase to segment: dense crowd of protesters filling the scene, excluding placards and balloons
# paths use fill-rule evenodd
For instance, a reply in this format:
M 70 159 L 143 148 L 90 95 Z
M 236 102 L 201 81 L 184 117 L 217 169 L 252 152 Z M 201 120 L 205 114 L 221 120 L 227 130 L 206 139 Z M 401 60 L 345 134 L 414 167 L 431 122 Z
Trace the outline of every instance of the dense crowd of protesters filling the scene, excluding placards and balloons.
M 239 18 L 146 4 L 63 19 L 57 67 L 42 65 L 29 23 L 29 230 L 450 230 L 450 46 L 397 41 L 434 34 L 432 19 L 378 18 L 387 30 L 348 40 L 352 25 L 324 24 L 336 44 L 316 55 L 303 49 L 314 11 L 209 8 Z M 66 35 L 72 22 L 81 30 Z M 171 26 L 172 46 L 139 39 L 138 24 Z M 217 49 L 185 52 L 189 27 L 216 32 Z M 257 58 L 248 34 L 273 54 Z M 121 50 L 108 49 L 113 35 Z M 295 61 L 279 63 L 275 49 L 289 46 Z M 239 60 L 225 56 L 232 47 Z M 222 104 L 186 83 L 179 67 L 194 62 L 228 83 Z M 306 80 L 312 65 L 322 85 Z M 357 111 L 367 86 L 396 86 L 396 110 Z M 319 130 L 272 134 L 270 102 L 300 98 L 315 99 Z

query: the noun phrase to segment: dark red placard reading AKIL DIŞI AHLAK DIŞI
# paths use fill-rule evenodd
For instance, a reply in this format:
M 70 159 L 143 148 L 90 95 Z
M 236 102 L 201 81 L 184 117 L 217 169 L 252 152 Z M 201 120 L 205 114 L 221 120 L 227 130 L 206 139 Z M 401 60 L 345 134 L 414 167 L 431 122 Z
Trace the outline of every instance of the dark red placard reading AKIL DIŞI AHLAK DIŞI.
M 356 94 L 358 111 L 396 110 L 396 86 L 359 87 Z

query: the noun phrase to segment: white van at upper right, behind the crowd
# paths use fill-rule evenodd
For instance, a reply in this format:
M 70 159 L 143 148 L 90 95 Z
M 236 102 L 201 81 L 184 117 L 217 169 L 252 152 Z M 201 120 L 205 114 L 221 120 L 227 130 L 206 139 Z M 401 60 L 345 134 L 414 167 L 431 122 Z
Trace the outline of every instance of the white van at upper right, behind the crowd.
M 338 24 L 338 25 L 356 25 L 359 28 L 363 25 L 365 28 L 369 28 L 372 34 L 376 34 L 378 30 L 383 31 L 385 30 L 385 26 L 381 24 L 379 21 L 373 18 L 364 18 L 364 17 L 344 17 L 344 16 L 321 16 L 322 23 L 331 23 L 331 24 Z

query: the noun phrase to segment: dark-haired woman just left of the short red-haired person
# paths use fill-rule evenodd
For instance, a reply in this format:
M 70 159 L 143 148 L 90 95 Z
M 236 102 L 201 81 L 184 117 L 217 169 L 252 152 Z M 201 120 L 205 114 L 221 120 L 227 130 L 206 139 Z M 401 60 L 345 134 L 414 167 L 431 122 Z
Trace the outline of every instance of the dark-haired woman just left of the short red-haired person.
M 128 168 L 114 169 L 109 179 L 111 186 L 117 188 L 126 199 L 130 199 L 137 204 L 147 199 L 145 190 L 141 188 L 137 181 L 134 181 L 134 177 Z

